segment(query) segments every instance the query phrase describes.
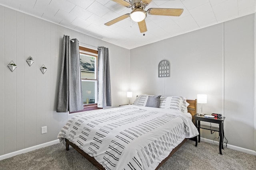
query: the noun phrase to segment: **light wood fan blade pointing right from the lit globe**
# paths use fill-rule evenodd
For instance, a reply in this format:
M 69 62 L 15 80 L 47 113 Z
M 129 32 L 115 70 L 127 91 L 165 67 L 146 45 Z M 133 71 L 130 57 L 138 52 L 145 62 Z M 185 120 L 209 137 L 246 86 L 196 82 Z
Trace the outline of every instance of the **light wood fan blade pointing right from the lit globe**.
M 180 16 L 183 9 L 176 8 L 149 8 L 147 13 L 158 16 Z

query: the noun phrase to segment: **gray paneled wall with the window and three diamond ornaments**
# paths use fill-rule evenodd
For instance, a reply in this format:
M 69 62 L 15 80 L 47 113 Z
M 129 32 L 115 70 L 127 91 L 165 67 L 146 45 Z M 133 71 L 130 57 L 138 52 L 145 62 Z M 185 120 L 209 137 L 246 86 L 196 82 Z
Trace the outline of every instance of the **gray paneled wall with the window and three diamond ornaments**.
M 128 49 L 0 6 L 0 155 L 54 141 L 66 123 L 68 114 L 56 113 L 64 34 L 109 48 L 112 106 L 128 103 Z M 35 61 L 30 67 L 29 56 Z M 17 65 L 14 72 L 7 66 L 10 61 Z M 42 64 L 45 74 L 40 71 Z M 46 134 L 41 134 L 42 126 L 47 126 Z

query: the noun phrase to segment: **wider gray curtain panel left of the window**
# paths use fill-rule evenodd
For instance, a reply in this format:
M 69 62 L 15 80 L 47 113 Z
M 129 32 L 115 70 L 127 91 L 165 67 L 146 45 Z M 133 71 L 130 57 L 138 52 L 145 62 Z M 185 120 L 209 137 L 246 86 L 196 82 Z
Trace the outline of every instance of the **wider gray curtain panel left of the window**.
M 57 112 L 72 112 L 84 109 L 80 72 L 79 45 L 77 39 L 70 41 L 63 37 L 60 83 L 57 98 Z

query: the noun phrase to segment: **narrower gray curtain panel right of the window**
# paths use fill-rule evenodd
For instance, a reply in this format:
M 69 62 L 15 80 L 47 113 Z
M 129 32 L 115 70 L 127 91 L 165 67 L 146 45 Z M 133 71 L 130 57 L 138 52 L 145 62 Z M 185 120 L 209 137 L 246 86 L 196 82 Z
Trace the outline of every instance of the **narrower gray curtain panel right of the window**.
M 98 47 L 98 107 L 111 106 L 108 48 Z

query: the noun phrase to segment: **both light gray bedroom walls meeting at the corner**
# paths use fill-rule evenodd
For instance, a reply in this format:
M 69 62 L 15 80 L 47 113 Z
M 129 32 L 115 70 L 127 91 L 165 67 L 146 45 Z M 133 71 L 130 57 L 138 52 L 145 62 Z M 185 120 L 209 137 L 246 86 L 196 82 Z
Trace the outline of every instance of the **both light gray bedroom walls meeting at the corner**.
M 0 155 L 56 140 L 70 117 L 56 113 L 63 34 L 109 48 L 113 107 L 127 104 L 130 90 L 133 96 L 188 99 L 204 93 L 208 103 L 203 111 L 226 116 L 228 143 L 256 150 L 254 15 L 127 50 L 0 6 Z M 30 55 L 35 61 L 31 67 L 26 63 Z M 158 78 L 162 59 L 170 61 L 169 78 Z M 14 72 L 7 67 L 12 60 L 17 64 Z M 45 74 L 39 69 L 42 64 L 48 68 Z M 47 126 L 48 133 L 41 134 L 42 126 Z M 216 135 L 203 131 L 202 137 Z

